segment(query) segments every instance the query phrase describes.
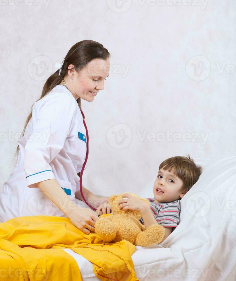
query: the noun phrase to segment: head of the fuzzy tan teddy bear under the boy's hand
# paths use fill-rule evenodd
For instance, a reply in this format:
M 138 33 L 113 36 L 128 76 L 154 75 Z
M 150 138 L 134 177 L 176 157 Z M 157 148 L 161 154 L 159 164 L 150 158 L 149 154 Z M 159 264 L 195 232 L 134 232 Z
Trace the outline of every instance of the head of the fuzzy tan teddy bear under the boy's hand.
M 112 196 L 110 196 L 109 198 L 109 203 L 111 205 L 111 208 L 112 208 L 112 213 L 113 214 L 127 214 L 127 215 L 131 215 L 131 216 L 134 216 L 135 218 L 137 218 L 138 220 L 141 219 L 142 217 L 142 214 L 141 212 L 139 211 L 133 211 L 133 210 L 122 210 L 120 209 L 120 205 L 118 204 L 118 202 L 124 198 L 127 198 L 127 197 L 122 197 L 123 194 L 125 193 L 128 193 L 132 196 L 135 196 L 141 200 L 143 200 L 144 202 L 146 202 L 149 206 L 150 206 L 150 202 L 146 199 L 146 198 L 140 198 L 137 194 L 135 193 L 130 193 L 130 192 L 124 192 L 124 193 L 121 193 L 121 194 L 114 194 Z

